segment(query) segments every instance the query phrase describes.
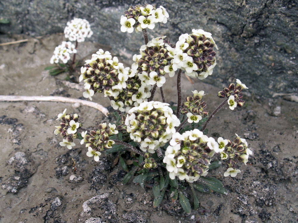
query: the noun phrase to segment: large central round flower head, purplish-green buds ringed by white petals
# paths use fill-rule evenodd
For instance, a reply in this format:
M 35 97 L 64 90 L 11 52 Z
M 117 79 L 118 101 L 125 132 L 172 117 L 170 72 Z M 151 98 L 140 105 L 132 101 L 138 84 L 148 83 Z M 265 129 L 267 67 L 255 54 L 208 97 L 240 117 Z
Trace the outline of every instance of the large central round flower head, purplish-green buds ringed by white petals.
M 176 132 L 180 120 L 173 114 L 169 104 L 159 101 L 142 102 L 128 111 L 126 131 L 144 152 L 155 153 Z

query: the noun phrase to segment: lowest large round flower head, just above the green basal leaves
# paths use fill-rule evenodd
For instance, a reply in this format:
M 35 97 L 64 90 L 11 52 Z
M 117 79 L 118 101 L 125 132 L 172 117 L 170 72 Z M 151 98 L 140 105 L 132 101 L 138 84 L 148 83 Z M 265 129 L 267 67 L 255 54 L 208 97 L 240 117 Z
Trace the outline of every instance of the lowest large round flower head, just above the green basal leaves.
M 198 129 L 173 134 L 167 147 L 163 162 L 167 164 L 167 171 L 173 180 L 187 182 L 197 181 L 200 176 L 208 173 L 212 156 L 218 153 L 218 143 Z

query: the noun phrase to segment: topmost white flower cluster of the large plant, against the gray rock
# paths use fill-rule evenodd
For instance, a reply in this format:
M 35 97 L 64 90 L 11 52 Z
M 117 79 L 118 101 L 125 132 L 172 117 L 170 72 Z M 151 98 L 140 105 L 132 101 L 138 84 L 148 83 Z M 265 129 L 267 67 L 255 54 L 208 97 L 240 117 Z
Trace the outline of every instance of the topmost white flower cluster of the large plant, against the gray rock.
M 125 16 L 121 16 L 120 29 L 122 32 L 128 33 L 134 32 L 134 28 L 136 28 L 136 32 L 140 32 L 146 28 L 153 29 L 155 23 L 166 23 L 167 18 L 169 18 L 169 14 L 162 6 L 159 6 L 157 9 L 150 4 L 145 7 L 130 7 L 129 10 L 125 12 Z

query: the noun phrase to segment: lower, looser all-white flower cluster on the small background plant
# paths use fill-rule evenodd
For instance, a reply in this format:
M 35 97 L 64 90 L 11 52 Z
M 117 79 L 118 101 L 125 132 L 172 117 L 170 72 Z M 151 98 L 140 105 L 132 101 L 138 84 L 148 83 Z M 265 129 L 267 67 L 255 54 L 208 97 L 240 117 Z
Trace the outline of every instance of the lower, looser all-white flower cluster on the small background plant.
M 56 46 L 54 50 L 54 55 L 50 59 L 50 63 L 59 63 L 59 60 L 61 60 L 64 64 L 66 64 L 70 59 L 70 54 L 77 53 L 77 50 L 75 49 L 75 45 L 71 42 L 63 41 L 61 45 Z

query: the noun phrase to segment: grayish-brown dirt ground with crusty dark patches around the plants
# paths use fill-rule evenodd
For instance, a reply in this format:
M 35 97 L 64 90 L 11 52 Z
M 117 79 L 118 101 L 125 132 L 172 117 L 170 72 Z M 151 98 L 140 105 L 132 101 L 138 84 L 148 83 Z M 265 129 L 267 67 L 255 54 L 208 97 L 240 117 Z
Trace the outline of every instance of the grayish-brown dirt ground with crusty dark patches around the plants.
M 1 42 L 23 38 L 4 36 Z M 82 98 L 82 92 L 63 84 L 66 75 L 52 77 L 44 71 L 62 40 L 62 35 L 51 35 L 0 47 L 0 94 Z M 89 58 L 98 48 L 90 42 L 79 44 L 78 58 Z M 175 81 L 167 77 L 167 102 L 176 102 Z M 217 97 L 221 89 L 194 82 L 182 76 L 183 98 L 191 90 L 204 90 L 212 112 L 221 103 Z M 155 100 L 159 98 L 158 93 Z M 201 205 L 190 215 L 169 201 L 153 208 L 149 189 L 133 182 L 122 185 L 125 172 L 113 165 L 115 154 L 96 163 L 78 140 L 68 150 L 53 134 L 57 114 L 65 108 L 78 113 L 86 128 L 113 117 L 69 103 L 0 102 L 0 222 L 297 222 L 297 103 L 255 97 L 249 91 L 244 99 L 242 109 L 231 111 L 226 106 L 216 114 L 208 136 L 234 139 L 237 133 L 246 138 L 253 156 L 247 166 L 240 165 L 236 178 L 224 178 L 224 166 L 210 171 L 223 181 L 228 194 L 198 194 Z M 110 105 L 100 94 L 93 101 Z

